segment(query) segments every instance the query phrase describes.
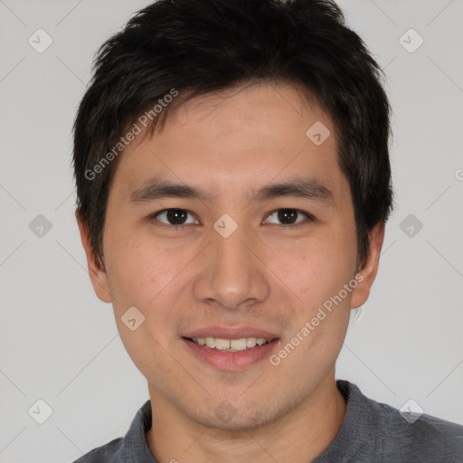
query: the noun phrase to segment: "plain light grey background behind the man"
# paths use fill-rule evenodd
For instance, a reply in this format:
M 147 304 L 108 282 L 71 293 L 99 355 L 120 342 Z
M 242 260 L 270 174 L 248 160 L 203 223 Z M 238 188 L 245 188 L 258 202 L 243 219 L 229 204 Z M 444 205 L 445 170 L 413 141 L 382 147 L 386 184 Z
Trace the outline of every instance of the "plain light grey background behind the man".
M 148 3 L 0 0 L 0 462 L 74 460 L 123 436 L 148 399 L 90 285 L 71 172 L 93 53 Z M 463 2 L 339 4 L 387 74 L 397 208 L 337 377 L 463 423 Z M 38 29 L 44 52 L 28 43 L 46 44 Z

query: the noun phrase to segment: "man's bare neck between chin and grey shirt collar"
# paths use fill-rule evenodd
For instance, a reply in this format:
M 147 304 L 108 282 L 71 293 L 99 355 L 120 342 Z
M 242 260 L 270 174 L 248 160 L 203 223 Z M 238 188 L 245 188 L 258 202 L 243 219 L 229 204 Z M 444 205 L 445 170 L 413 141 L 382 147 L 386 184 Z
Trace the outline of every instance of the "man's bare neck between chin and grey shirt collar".
M 346 403 L 334 371 L 302 403 L 269 425 L 249 430 L 207 428 L 190 420 L 150 388 L 153 424 L 146 433 L 159 463 L 236 463 L 292 461 L 307 463 L 335 439 Z

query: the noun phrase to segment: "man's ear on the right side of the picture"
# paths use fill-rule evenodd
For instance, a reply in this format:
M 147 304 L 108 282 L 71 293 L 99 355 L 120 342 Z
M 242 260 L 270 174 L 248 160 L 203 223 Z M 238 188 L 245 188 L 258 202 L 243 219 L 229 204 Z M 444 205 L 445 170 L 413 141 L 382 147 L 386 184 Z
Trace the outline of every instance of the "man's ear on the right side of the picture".
M 370 288 L 372 288 L 373 281 L 378 272 L 381 249 L 383 248 L 384 222 L 377 223 L 369 234 L 370 245 L 368 248 L 368 255 L 364 261 L 363 268 L 358 271 L 360 278 L 356 278 L 359 283 L 353 291 L 351 308 L 364 305 L 370 296 Z

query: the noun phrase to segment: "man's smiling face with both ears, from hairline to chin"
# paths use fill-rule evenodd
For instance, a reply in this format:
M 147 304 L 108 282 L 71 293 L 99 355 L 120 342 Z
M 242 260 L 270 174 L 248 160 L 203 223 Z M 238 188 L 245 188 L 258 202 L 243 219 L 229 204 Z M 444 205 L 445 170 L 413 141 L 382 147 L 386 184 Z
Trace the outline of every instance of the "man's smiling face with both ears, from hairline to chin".
M 94 288 L 152 401 L 206 426 L 270 423 L 334 382 L 350 309 L 373 283 L 382 231 L 357 275 L 336 129 L 301 95 L 209 94 L 130 144 L 109 193 L 106 272 L 80 224 Z

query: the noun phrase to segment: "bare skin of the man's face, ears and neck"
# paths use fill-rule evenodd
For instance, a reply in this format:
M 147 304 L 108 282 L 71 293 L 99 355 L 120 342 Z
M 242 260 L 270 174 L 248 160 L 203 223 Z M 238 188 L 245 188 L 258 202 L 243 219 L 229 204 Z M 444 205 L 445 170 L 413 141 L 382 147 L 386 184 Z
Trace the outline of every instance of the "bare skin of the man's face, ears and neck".
M 331 132 L 321 146 L 306 136 L 316 121 Z M 288 83 L 208 94 L 184 103 L 163 131 L 138 137 L 120 158 L 103 233 L 106 270 L 78 216 L 95 292 L 113 304 L 121 340 L 148 382 L 154 419 L 146 440 L 160 463 L 306 463 L 335 439 L 345 418 L 335 360 L 351 308 L 369 296 L 383 223 L 371 231 L 362 282 L 278 366 L 266 358 L 221 371 L 182 339 L 203 326 L 250 325 L 278 335 L 278 353 L 354 278 L 354 206 L 335 134 L 331 118 Z M 325 185 L 333 203 L 248 199 L 252 188 L 302 174 Z M 201 187 L 214 199 L 130 203 L 154 175 Z M 168 208 L 192 213 L 188 223 L 150 218 Z M 298 227 L 288 228 L 272 214 L 282 208 L 316 220 L 302 213 Z M 227 239 L 213 229 L 224 213 L 238 224 Z M 132 306 L 146 317 L 136 331 L 121 321 Z M 236 410 L 226 423 L 214 413 L 225 400 Z

